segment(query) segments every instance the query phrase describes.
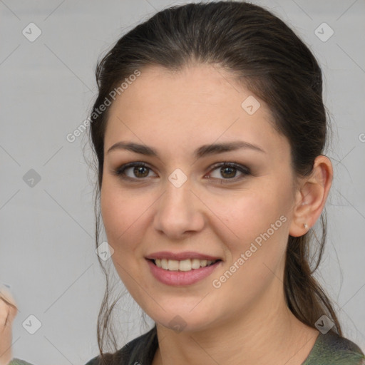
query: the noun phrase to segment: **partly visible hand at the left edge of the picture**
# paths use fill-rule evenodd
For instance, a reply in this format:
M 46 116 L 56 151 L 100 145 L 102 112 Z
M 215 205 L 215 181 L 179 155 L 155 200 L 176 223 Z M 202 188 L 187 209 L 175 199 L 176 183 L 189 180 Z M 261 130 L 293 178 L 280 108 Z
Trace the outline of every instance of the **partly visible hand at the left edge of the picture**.
M 0 287 L 0 365 L 8 365 L 13 359 L 11 326 L 17 313 L 15 300 L 3 285 Z

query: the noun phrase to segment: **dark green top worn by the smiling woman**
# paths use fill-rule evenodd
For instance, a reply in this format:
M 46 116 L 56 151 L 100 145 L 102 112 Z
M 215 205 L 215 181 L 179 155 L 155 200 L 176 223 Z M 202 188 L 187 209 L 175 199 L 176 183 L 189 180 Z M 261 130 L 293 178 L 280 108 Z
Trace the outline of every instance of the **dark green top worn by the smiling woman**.
M 120 365 L 151 365 L 158 349 L 157 329 L 128 342 L 115 353 Z M 93 357 L 86 365 L 99 365 L 99 356 Z M 13 359 L 9 365 L 31 365 L 26 361 Z M 319 332 L 312 350 L 302 365 L 365 365 L 365 356 L 359 346 L 333 331 Z

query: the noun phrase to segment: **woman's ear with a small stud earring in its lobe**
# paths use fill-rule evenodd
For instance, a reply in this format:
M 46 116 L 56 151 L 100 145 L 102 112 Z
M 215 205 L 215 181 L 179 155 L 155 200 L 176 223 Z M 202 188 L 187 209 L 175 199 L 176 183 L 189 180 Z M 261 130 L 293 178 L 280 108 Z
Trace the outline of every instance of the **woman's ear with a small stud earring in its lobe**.
M 322 213 L 333 178 L 331 160 L 319 155 L 311 175 L 300 178 L 289 235 L 299 237 L 314 226 Z

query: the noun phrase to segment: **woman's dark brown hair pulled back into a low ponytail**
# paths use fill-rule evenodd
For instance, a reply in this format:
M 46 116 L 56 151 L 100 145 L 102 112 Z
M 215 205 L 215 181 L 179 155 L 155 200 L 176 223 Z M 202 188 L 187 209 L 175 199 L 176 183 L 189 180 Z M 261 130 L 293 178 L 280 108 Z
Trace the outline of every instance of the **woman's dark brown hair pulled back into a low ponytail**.
M 108 108 L 99 106 L 110 92 L 148 65 L 178 71 L 190 63 L 207 63 L 231 71 L 274 116 L 274 126 L 289 140 L 292 168 L 297 175 L 312 172 L 314 159 L 327 141 L 327 113 L 322 101 L 322 72 L 309 48 L 282 20 L 260 6 L 238 1 L 173 6 L 158 12 L 122 36 L 96 68 L 98 96 L 91 113 L 91 140 L 96 154 L 96 246 L 100 228 L 100 190 L 103 180 L 103 148 Z M 98 113 L 95 113 L 98 110 Z M 284 269 L 284 293 L 289 309 L 314 328 L 323 314 L 341 327 L 330 299 L 314 278 L 326 239 L 326 212 L 321 215 L 322 237 L 310 230 L 302 237 L 289 236 Z M 311 267 L 309 245 L 319 244 L 317 263 Z M 101 259 L 99 262 L 103 267 Z M 103 268 L 106 274 L 105 269 Z M 109 330 L 108 275 L 106 293 L 98 316 L 101 360 L 103 339 Z M 115 339 L 113 332 L 109 339 Z M 117 346 L 114 341 L 115 350 Z M 104 356 L 104 357 L 103 357 Z M 105 364 L 110 364 L 105 361 Z

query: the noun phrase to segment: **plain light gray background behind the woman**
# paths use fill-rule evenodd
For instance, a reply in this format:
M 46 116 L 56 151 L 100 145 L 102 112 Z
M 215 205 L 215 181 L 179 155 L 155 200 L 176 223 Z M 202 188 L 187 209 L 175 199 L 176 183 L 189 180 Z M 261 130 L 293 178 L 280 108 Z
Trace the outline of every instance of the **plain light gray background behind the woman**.
M 19 305 L 16 357 L 85 364 L 98 354 L 104 281 L 93 241 L 94 175 L 83 158 L 86 133 L 73 143 L 66 135 L 88 116 L 98 56 L 155 11 L 183 3 L 0 1 L 0 282 Z M 345 335 L 365 350 L 365 1 L 255 3 L 292 26 L 322 65 L 334 182 L 318 277 L 338 304 Z M 22 34 L 31 22 L 42 32 L 33 42 Z M 323 22 L 334 30 L 327 41 L 314 33 Z M 41 178 L 34 186 L 24 181 L 31 169 Z M 120 345 L 145 331 L 137 304 L 128 294 L 123 303 Z M 22 325 L 31 314 L 41 322 L 35 334 Z

